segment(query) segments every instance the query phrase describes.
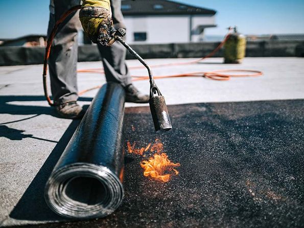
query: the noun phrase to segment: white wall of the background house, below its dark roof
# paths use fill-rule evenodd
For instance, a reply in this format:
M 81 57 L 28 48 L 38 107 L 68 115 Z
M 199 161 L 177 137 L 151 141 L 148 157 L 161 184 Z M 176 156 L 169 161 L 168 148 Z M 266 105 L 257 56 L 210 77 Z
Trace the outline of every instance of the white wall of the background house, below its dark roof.
M 191 22 L 192 18 L 192 22 Z M 214 25 L 214 16 L 155 15 L 125 16 L 128 43 L 182 43 L 190 42 L 190 27 Z M 135 32 L 146 32 L 146 41 L 134 41 Z M 196 41 L 197 39 L 192 39 Z

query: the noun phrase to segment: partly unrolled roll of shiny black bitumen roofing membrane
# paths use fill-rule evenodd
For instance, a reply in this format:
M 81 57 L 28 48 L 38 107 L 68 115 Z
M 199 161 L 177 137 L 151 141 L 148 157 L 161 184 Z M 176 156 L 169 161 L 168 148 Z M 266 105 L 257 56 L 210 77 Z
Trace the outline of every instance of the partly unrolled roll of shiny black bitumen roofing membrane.
M 69 218 L 100 218 L 123 199 L 124 88 L 102 86 L 63 151 L 44 197 L 57 214 Z

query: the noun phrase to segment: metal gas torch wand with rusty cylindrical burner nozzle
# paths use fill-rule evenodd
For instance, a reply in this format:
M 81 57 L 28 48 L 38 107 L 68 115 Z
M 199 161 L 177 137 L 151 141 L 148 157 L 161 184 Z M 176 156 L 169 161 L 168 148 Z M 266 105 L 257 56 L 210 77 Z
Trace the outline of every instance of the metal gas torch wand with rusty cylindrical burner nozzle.
M 139 56 L 124 40 L 122 37 L 126 35 L 126 30 L 121 28 L 118 30 L 112 30 L 111 32 L 112 38 L 109 41 L 111 45 L 115 41 L 119 41 L 124 47 L 133 55 L 139 62 L 141 62 L 149 74 L 150 81 L 150 99 L 149 105 L 151 110 L 151 115 L 153 118 L 153 123 L 156 132 L 169 131 L 172 129 L 169 112 L 167 109 L 165 97 L 163 97 L 159 91 L 159 88 L 156 86 L 156 83 L 153 79 L 153 74 L 150 66 L 146 63 L 146 61 Z

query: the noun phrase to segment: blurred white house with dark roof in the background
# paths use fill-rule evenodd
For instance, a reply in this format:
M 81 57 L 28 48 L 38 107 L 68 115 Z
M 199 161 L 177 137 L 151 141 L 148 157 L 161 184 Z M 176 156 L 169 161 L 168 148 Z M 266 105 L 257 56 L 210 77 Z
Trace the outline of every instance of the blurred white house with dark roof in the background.
M 184 43 L 204 39 L 216 27 L 215 10 L 167 0 L 124 0 L 128 43 Z

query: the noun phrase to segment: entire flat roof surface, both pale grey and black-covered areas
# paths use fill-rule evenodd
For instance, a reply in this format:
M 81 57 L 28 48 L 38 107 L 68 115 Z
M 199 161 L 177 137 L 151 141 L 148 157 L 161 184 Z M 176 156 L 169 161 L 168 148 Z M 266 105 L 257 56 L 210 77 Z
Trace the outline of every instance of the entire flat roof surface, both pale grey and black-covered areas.
M 151 65 L 193 60 L 146 59 Z M 71 227 L 217 227 L 219 221 L 226 222 L 221 223 L 223 227 L 303 224 L 303 186 L 298 181 L 304 176 L 299 162 L 303 157 L 303 100 L 298 100 L 304 99 L 303 58 L 222 62 L 223 58 L 209 58 L 192 65 L 152 67 L 155 76 L 224 69 L 261 70 L 264 75 L 229 81 L 157 79 L 172 119 L 173 130 L 168 133 L 155 134 L 147 104 L 129 108 L 135 105 L 126 103 L 125 140 L 136 141 L 139 147 L 160 137 L 169 158 L 181 164 L 180 175 L 168 185 L 155 183 L 144 177 L 139 157 L 126 153 L 122 206 L 104 219 L 77 221 Z M 127 64 L 141 65 L 137 60 L 127 60 Z M 94 69 L 101 62 L 77 66 Z M 146 69 L 130 72 L 147 75 Z M 79 121 L 58 118 L 43 97 L 41 74 L 41 64 L 0 67 L 2 226 L 67 226 L 48 224 L 67 219 L 46 206 L 43 189 Z M 77 79 L 79 90 L 105 83 L 100 73 L 79 73 Z M 148 81 L 134 84 L 148 93 Z M 90 104 L 97 92 L 83 94 L 79 103 Z M 231 215 L 236 212 L 238 216 Z

